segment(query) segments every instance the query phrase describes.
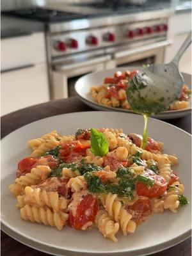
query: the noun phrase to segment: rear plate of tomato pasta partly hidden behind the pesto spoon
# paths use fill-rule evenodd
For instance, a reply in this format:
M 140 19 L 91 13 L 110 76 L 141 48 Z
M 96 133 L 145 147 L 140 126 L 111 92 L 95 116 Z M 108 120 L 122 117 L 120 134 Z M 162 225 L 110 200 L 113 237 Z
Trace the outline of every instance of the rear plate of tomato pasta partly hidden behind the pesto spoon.
M 93 109 L 133 113 L 126 99 L 125 88 L 127 81 L 134 75 L 135 70 L 140 70 L 140 67 L 116 68 L 85 75 L 77 80 L 76 93 L 79 99 Z M 118 72 L 122 72 L 123 76 Z M 154 117 L 163 120 L 179 118 L 191 113 L 191 99 L 188 96 L 191 89 L 191 76 L 185 73 L 182 73 L 182 76 L 184 77 L 184 83 L 187 84 L 183 88 L 184 93 L 182 94 L 184 94 L 184 97 L 173 102 L 170 109 Z M 119 82 L 117 83 L 117 81 Z

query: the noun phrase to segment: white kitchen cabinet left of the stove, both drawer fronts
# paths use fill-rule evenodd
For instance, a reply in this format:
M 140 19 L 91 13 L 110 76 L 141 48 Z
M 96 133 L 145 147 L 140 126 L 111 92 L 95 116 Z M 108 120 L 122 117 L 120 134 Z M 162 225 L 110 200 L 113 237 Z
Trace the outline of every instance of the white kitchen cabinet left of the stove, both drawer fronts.
M 1 115 L 50 100 L 43 32 L 1 40 Z

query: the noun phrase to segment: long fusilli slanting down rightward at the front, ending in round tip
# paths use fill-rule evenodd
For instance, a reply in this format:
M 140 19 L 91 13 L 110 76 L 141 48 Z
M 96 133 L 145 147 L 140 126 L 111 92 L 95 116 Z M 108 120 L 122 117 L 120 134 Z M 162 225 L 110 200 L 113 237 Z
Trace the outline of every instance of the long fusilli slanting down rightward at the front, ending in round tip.
M 131 220 L 132 215 L 122 207 L 121 202 L 117 199 L 117 195 L 109 193 L 102 198 L 102 202 L 109 216 L 120 224 L 124 236 L 134 233 L 136 223 Z

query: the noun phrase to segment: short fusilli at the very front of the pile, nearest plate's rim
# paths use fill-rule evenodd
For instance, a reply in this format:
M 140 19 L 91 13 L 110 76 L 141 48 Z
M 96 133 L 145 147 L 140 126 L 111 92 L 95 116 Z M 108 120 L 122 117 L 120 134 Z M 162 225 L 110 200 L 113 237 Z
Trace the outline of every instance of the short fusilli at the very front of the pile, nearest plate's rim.
M 113 242 L 118 241 L 115 234 L 119 230 L 119 223 L 113 221 L 107 211 L 99 210 L 99 212 L 97 212 L 95 225 L 104 237 L 108 237 Z

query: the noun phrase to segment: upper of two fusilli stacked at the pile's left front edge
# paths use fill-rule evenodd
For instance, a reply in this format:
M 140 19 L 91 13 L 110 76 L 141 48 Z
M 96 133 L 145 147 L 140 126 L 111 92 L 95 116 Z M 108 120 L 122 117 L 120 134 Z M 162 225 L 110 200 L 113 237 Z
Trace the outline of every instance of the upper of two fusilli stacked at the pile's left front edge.
M 47 205 L 54 209 L 54 211 L 65 210 L 67 208 L 67 200 L 63 196 L 59 197 L 58 192 L 41 191 L 40 188 L 33 189 L 29 186 L 25 188 L 25 195 L 23 195 L 22 200 L 20 196 L 17 196 L 17 201 L 20 207 L 23 207 L 22 205 L 26 204 L 36 204 L 38 206 Z

